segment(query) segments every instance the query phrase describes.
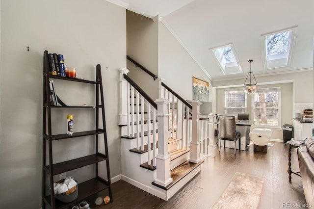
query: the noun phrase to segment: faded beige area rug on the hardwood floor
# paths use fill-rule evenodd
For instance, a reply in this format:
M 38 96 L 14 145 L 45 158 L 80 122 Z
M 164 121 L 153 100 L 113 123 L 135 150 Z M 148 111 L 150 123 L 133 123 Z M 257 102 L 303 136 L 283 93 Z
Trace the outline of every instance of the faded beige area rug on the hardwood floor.
M 236 172 L 212 209 L 258 209 L 265 180 Z

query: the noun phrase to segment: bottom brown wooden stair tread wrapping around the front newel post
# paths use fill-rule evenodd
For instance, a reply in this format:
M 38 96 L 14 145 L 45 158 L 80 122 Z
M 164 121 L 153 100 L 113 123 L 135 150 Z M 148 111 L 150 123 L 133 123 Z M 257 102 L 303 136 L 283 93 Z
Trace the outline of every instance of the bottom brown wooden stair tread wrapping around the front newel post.
M 172 183 L 170 183 L 167 186 L 159 185 L 155 182 L 152 182 L 153 185 L 158 186 L 159 188 L 162 188 L 164 190 L 170 189 L 172 186 L 174 186 L 176 183 L 178 183 L 180 180 L 182 180 L 187 174 L 189 174 L 191 171 L 193 171 L 195 168 L 200 166 L 204 161 L 201 160 L 198 163 L 189 162 L 186 160 L 178 167 L 171 170 L 171 178 Z

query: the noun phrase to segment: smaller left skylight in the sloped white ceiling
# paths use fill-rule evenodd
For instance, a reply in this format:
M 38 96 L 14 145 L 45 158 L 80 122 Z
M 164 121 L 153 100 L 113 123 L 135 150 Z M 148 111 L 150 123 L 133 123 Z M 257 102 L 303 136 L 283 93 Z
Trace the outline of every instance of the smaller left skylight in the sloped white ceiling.
M 219 66 L 222 72 L 224 73 L 224 75 L 236 74 L 236 73 L 242 72 L 242 68 L 238 64 L 239 61 L 235 54 L 233 44 L 229 44 L 226 46 L 222 46 L 222 47 L 210 49 L 210 50 L 215 55 L 214 57 L 216 58 L 216 61 L 219 63 Z

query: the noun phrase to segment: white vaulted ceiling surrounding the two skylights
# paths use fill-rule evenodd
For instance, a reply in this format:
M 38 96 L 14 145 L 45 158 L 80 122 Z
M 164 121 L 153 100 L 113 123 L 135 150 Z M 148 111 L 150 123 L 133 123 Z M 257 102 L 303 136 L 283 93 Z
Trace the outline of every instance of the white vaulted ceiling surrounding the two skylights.
M 314 0 L 107 0 L 161 21 L 213 81 L 313 70 Z M 261 35 L 296 27 L 287 67 L 265 69 Z M 233 44 L 243 72 L 224 75 L 212 48 Z

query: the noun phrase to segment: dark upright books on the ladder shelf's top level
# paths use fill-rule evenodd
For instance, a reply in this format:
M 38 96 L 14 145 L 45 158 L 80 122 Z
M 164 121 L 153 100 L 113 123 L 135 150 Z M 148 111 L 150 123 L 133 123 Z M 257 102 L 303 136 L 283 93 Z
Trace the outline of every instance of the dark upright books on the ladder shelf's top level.
M 49 72 L 51 75 L 65 77 L 65 66 L 62 54 L 49 53 Z

